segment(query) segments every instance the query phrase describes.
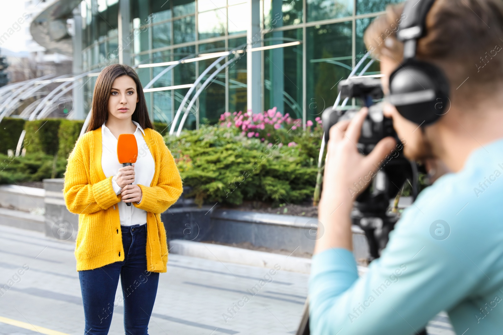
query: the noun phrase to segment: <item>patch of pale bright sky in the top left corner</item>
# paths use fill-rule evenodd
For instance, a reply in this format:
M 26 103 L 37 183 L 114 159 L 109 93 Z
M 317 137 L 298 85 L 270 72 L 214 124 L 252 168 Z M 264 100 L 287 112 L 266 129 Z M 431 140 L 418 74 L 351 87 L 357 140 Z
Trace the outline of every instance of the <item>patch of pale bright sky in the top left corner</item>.
M 0 35 L 4 35 L 17 20 L 26 13 L 24 0 L 0 0 Z M 15 26 L 16 27 L 16 26 Z M 0 45 L 0 49 L 9 49 L 14 52 L 27 51 L 26 40 L 29 38 L 29 24 L 21 25 L 19 31 L 14 30 L 14 34 Z M 11 30 L 12 32 L 12 30 Z

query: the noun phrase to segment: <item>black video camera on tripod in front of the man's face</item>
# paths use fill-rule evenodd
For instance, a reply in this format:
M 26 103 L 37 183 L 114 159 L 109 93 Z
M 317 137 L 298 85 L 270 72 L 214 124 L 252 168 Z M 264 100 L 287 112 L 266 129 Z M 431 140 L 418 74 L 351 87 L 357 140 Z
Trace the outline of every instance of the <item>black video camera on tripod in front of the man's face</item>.
M 395 138 L 396 147 L 391 156 L 386 156 L 374 173 L 355 180 L 353 191 L 365 188 L 355 199 L 351 218 L 354 225 L 362 228 L 369 244 L 368 261 L 378 258 L 388 242 L 388 234 L 399 218 L 397 212 L 388 211 L 390 200 L 394 199 L 407 179 L 411 181 L 413 198 L 417 195 L 418 168 L 415 162 L 403 156 L 403 145 L 393 129 L 393 121 L 382 112 L 383 91 L 381 81 L 373 77 L 351 77 L 339 83 L 341 98 L 358 98 L 369 108 L 362 125 L 360 139 L 356 146 L 363 155 L 368 155 L 376 144 L 387 136 Z M 377 102 L 377 103 L 376 103 Z M 360 108 L 326 109 L 322 116 L 325 143 L 328 143 L 329 129 L 337 122 L 352 119 Z M 389 160 L 387 159 L 389 157 Z M 372 173 L 370 173 L 372 172 Z M 330 173 L 330 171 L 325 171 Z M 370 185 L 367 187 L 367 184 Z M 350 190 L 351 191 L 351 190 Z

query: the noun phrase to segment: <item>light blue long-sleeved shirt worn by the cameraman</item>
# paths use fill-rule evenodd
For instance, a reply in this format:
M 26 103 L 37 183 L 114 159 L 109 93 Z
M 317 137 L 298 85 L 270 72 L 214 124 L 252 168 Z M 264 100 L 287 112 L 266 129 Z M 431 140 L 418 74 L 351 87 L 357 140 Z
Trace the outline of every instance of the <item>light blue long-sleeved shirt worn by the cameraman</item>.
M 358 277 L 342 248 L 312 258 L 312 335 L 404 335 L 441 310 L 458 335 L 503 333 L 503 139 L 407 207 L 381 257 Z

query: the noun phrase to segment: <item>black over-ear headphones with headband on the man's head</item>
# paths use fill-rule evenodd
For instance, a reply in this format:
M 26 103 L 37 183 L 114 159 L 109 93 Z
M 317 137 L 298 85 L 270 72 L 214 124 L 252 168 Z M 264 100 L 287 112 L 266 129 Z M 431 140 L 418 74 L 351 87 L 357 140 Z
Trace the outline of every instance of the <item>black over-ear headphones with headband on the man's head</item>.
M 407 0 L 405 19 L 396 37 L 403 42 L 403 62 L 389 77 L 388 101 L 418 125 L 436 122 L 450 108 L 449 81 L 436 65 L 415 59 L 417 40 L 425 36 L 425 21 L 435 0 Z

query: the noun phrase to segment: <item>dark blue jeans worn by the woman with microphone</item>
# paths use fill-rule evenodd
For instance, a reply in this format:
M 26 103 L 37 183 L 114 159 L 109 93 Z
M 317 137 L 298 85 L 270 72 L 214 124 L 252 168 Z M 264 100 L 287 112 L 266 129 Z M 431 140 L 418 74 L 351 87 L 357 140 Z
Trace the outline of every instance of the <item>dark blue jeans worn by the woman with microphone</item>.
M 108 334 L 112 322 L 119 275 L 124 301 L 124 331 L 127 335 L 148 335 L 159 282 L 159 273 L 147 271 L 145 225 L 121 226 L 124 261 L 93 270 L 78 271 L 86 335 Z

